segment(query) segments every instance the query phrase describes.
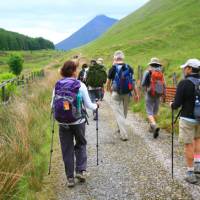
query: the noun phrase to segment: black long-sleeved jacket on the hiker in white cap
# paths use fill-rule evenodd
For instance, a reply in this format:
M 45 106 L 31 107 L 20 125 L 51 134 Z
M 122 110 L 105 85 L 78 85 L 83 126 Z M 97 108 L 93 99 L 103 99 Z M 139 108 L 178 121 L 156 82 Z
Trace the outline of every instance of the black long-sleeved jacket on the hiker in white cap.
M 195 85 L 187 79 L 188 77 L 200 78 L 198 74 L 193 74 L 180 81 L 177 86 L 175 100 L 172 104 L 172 108 L 178 109 L 181 107 L 181 117 L 195 119 Z

